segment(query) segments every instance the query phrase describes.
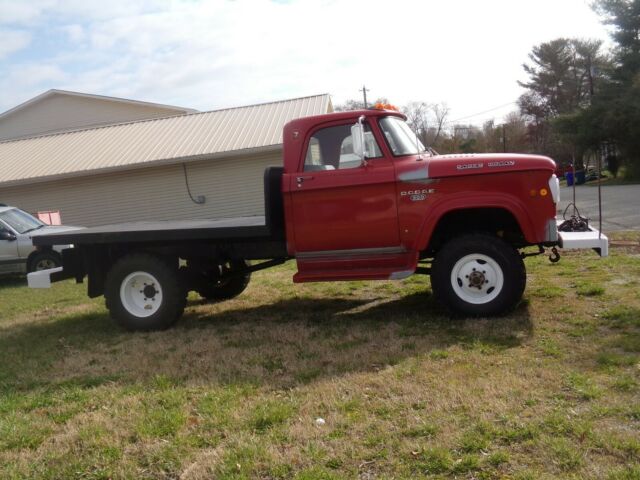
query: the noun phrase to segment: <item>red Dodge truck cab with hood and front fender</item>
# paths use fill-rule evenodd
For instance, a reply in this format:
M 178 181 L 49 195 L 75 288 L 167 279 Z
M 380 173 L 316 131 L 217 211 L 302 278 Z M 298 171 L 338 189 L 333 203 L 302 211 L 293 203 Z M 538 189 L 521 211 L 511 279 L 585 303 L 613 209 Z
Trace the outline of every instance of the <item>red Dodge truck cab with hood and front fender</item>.
M 551 159 L 434 155 L 404 120 L 364 110 L 285 127 L 282 191 L 295 281 L 404 278 L 468 233 L 513 248 L 558 241 Z

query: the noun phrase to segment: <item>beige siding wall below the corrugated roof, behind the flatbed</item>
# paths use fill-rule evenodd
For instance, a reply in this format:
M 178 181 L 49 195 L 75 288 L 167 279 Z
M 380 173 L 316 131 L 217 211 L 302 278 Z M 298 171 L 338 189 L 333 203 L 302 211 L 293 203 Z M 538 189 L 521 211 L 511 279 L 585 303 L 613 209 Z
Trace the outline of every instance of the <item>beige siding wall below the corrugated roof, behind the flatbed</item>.
M 193 162 L 187 165 L 188 196 L 181 164 L 0 187 L 0 201 L 29 212 L 60 210 L 67 225 L 225 218 L 263 215 L 263 172 L 282 165 L 280 152 Z

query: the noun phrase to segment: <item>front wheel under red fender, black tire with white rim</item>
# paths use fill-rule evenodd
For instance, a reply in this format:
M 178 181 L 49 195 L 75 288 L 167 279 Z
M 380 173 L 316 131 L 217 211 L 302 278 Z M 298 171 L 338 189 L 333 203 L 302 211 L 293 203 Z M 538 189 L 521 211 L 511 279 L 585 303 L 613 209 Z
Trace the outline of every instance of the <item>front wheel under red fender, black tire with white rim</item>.
M 436 254 L 431 269 L 436 298 L 453 313 L 473 317 L 512 310 L 522 298 L 526 281 L 518 251 L 487 234 L 450 240 Z

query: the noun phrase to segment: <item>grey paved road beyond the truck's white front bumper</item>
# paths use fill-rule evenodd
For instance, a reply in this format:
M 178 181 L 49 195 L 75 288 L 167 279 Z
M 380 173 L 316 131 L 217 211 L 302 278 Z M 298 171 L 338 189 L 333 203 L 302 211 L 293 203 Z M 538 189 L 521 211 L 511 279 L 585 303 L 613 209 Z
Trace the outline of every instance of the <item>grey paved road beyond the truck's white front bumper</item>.
M 572 199 L 573 187 L 562 187 L 559 215 Z M 598 228 L 598 187 L 577 186 L 576 205 L 580 214 Z M 567 211 L 567 217 L 571 211 Z M 640 185 L 602 186 L 602 231 L 612 230 L 640 230 Z

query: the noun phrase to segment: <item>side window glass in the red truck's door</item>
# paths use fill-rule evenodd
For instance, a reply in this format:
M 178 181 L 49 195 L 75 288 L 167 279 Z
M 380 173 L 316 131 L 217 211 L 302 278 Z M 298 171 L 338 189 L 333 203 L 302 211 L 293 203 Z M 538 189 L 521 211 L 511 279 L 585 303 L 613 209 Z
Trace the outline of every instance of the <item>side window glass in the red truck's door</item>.
M 305 172 L 357 168 L 362 159 L 353 153 L 351 125 L 338 125 L 318 130 L 309 140 L 304 162 Z M 367 158 L 381 157 L 380 147 L 368 125 L 365 125 Z

